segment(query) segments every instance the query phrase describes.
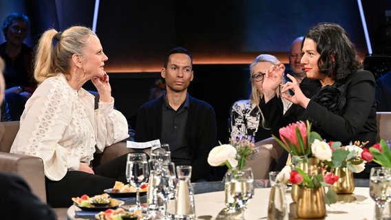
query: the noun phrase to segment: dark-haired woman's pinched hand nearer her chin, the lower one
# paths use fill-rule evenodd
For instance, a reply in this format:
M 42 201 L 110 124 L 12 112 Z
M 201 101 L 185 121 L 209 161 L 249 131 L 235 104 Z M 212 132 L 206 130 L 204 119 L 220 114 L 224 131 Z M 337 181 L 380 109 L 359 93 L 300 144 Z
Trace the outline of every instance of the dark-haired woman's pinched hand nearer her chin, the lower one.
M 281 90 L 282 97 L 294 104 L 299 104 L 302 107 L 304 107 L 304 109 L 306 109 L 308 102 L 310 102 L 310 99 L 304 96 L 302 89 L 299 88 L 299 85 L 297 84 L 297 80 L 295 79 L 295 77 L 290 76 L 289 74 L 287 74 L 286 76 L 288 76 L 288 78 L 290 78 L 292 82 L 285 83 L 285 85 L 282 87 Z M 286 91 L 288 90 L 292 90 L 294 95 L 290 96 L 286 94 Z

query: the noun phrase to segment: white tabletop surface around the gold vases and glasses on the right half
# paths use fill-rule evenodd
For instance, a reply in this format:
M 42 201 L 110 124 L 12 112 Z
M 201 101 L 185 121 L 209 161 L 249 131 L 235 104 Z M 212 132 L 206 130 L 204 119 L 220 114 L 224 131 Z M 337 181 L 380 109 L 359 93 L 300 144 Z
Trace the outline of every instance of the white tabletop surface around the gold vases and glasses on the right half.
M 244 211 L 244 219 L 267 219 L 268 197 L 271 188 L 255 188 L 255 194 Z M 288 207 L 295 206 L 287 190 L 286 200 Z M 197 219 L 242 219 L 240 214 L 226 215 L 224 210 L 224 192 L 208 192 L 194 195 L 195 214 Z M 375 203 L 370 198 L 369 188 L 356 187 L 355 192 L 348 195 L 339 195 L 337 203 L 326 205 L 326 218 L 332 220 L 373 219 Z M 289 212 L 289 210 L 288 210 Z M 220 214 L 219 214 L 220 213 Z M 289 213 L 289 219 L 294 219 Z M 287 218 L 288 219 L 288 218 Z

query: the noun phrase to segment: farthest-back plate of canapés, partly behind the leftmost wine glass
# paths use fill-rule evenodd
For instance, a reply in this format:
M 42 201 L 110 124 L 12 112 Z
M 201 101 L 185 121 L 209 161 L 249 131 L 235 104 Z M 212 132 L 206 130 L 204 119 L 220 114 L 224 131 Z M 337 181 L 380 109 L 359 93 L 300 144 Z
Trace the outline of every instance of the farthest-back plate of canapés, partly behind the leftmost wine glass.
M 142 184 L 140 187 L 140 196 L 146 195 L 147 191 L 148 184 Z M 116 181 L 113 188 L 105 189 L 104 192 L 114 198 L 136 197 L 136 187 L 124 184 L 121 181 Z

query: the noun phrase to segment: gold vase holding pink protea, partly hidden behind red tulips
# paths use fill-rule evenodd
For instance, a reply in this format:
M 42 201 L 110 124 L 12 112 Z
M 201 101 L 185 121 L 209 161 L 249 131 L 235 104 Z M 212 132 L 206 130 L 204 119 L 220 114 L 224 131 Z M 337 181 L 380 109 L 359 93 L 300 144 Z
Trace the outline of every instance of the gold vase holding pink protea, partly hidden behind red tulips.
M 315 157 L 307 158 L 306 156 L 293 156 L 292 165 L 294 167 L 300 168 L 307 175 L 318 175 L 319 173 L 321 173 L 319 159 Z M 300 197 L 300 192 L 301 190 L 299 186 L 292 184 L 290 197 L 292 197 L 293 202 L 297 202 L 297 199 Z

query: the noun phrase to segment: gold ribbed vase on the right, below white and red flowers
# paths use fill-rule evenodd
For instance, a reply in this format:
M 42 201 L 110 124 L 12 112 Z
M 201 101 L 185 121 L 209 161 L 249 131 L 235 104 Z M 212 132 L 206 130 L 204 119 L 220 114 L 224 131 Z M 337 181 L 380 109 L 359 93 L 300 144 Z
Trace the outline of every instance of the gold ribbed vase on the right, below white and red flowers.
M 338 181 L 331 186 L 337 194 L 348 194 L 355 190 L 355 179 L 351 170 L 346 167 L 335 168 L 332 174 L 339 177 Z

